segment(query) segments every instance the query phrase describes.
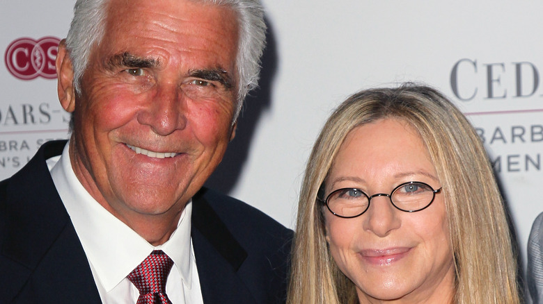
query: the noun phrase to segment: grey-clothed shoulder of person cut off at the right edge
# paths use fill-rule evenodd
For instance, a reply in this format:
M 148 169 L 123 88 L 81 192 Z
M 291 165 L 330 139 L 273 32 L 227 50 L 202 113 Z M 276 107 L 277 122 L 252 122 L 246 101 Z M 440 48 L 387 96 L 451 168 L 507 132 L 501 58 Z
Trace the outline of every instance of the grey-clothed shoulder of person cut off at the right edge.
M 528 238 L 528 290 L 533 304 L 543 303 L 543 213 L 535 218 Z

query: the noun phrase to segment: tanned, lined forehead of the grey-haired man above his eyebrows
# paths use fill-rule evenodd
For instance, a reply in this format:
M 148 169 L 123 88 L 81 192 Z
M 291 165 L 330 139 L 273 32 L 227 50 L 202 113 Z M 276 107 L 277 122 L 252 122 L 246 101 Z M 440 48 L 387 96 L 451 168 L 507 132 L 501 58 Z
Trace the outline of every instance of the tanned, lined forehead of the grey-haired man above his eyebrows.
M 127 2 L 131 5 L 127 6 Z M 227 40 L 237 45 L 239 39 L 234 10 L 208 1 L 111 0 L 107 11 L 103 37 L 115 44 L 119 44 L 119 37 L 122 37 L 127 47 L 137 47 L 153 39 L 175 40 L 175 35 L 182 34 L 181 44 L 200 44 L 205 48 L 210 44 L 229 44 Z M 115 52 L 119 51 L 124 51 L 122 46 Z

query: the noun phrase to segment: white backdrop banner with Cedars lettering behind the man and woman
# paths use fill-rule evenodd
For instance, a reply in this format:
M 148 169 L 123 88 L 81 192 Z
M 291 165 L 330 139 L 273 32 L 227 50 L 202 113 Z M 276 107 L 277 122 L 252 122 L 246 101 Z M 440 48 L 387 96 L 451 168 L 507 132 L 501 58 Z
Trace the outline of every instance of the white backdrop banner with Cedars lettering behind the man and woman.
M 0 179 L 47 140 L 68 137 L 54 58 L 73 0 L 0 5 Z M 265 0 L 260 89 L 208 185 L 293 226 L 308 153 L 349 94 L 403 81 L 448 95 L 477 128 L 507 201 L 523 262 L 543 211 L 543 3 Z M 481 181 L 484 183 L 485 181 Z

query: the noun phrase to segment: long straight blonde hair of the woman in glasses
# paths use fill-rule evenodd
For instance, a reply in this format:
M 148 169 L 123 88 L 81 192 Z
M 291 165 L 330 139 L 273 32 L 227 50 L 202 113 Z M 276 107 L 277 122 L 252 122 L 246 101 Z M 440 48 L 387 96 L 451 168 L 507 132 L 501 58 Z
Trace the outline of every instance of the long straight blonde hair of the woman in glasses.
M 354 284 L 330 255 L 317 196 L 345 136 L 386 118 L 418 130 L 441 180 L 455 259 L 454 303 L 520 303 L 516 252 L 482 142 L 443 94 L 411 83 L 350 96 L 322 128 L 301 187 L 288 303 L 358 303 Z

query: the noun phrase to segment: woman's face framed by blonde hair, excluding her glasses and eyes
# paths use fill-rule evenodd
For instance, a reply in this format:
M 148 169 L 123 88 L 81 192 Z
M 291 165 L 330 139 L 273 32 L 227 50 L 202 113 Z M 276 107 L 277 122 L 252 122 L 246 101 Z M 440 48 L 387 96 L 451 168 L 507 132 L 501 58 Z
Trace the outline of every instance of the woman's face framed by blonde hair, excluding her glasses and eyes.
M 402 120 L 381 119 L 347 135 L 326 178 L 326 195 L 345 187 L 368 196 L 390 194 L 409 181 L 441 187 L 417 131 Z M 352 219 L 326 207 L 322 212 L 333 260 L 356 285 L 361 303 L 452 299 L 455 266 L 442 193 L 419 212 L 400 211 L 387 196 L 372 198 L 368 210 Z

